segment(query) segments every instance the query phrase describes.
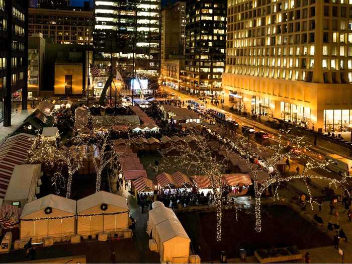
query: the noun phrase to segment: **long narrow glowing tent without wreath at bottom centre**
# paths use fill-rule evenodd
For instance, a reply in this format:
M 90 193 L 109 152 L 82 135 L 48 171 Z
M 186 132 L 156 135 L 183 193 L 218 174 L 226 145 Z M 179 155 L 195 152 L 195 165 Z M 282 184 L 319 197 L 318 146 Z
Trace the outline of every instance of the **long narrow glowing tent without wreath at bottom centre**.
M 172 262 L 173 257 L 189 257 L 190 238 L 170 208 L 159 206 L 149 211 L 148 231 L 156 241 L 160 262 Z

